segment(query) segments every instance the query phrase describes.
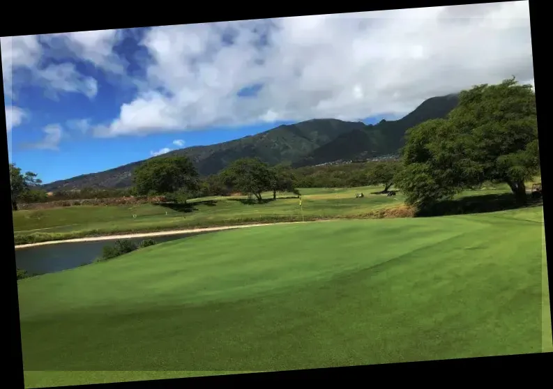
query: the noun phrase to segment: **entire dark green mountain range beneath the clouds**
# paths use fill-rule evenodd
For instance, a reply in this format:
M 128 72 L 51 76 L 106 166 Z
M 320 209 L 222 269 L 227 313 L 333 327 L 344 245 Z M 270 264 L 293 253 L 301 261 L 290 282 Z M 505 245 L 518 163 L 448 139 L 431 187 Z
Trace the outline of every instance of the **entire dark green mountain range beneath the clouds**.
M 312 119 L 229 142 L 191 146 L 162 156 L 186 155 L 201 176 L 218 173 L 239 158 L 259 158 L 269 165 L 281 162 L 292 167 L 319 165 L 336 160 L 359 160 L 397 153 L 404 144 L 405 132 L 423 121 L 444 118 L 458 103 L 458 95 L 429 98 L 413 112 L 396 121 L 382 120 L 366 125 L 338 119 Z M 43 185 L 43 189 L 126 188 L 132 185 L 132 171 L 142 161 L 98 173 L 84 174 Z

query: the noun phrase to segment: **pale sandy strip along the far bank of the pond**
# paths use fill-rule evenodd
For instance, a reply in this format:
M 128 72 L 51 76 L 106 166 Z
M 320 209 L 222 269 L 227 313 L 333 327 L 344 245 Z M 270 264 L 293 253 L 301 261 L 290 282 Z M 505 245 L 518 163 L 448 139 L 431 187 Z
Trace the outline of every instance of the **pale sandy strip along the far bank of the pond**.
M 29 243 L 29 244 L 26 244 L 26 245 L 16 245 L 15 248 L 19 249 L 19 248 L 25 248 L 25 247 L 55 245 L 55 244 L 59 244 L 59 243 L 114 241 L 116 239 L 150 238 L 152 236 L 195 234 L 195 233 L 198 233 L 198 232 L 223 231 L 225 229 L 240 229 L 240 228 L 246 228 L 246 227 L 272 226 L 272 225 L 275 225 L 275 224 L 305 224 L 305 223 L 332 222 L 332 221 L 335 221 L 335 220 L 315 220 L 315 221 L 312 221 L 312 222 L 278 222 L 278 223 L 241 224 L 241 225 L 236 225 L 236 226 L 205 227 L 205 228 L 196 228 L 196 229 L 175 229 L 175 230 L 169 230 L 169 231 L 143 232 L 143 233 L 137 233 L 137 234 L 91 236 L 89 238 L 64 239 L 62 241 L 47 241 L 47 242 L 39 242 L 39 243 Z

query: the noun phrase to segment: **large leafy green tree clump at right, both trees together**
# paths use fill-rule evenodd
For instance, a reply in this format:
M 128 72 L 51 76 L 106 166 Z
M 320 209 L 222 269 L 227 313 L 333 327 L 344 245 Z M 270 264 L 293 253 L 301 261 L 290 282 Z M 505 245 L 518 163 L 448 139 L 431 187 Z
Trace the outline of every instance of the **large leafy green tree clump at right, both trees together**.
M 507 183 L 520 201 L 540 167 L 536 97 L 506 79 L 460 93 L 447 119 L 411 128 L 396 184 L 410 205 L 424 207 L 485 181 Z

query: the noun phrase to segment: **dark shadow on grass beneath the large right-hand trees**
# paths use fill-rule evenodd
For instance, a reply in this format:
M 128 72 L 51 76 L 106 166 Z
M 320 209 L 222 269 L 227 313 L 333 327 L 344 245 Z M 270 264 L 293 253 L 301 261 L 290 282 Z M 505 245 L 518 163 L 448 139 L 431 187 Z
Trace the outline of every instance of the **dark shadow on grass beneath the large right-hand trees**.
M 416 217 L 430 218 L 433 216 L 507 211 L 510 209 L 541 206 L 542 204 L 542 199 L 532 199 L 530 196 L 528 196 L 526 203 L 521 204 L 516 201 L 512 193 L 482 194 L 479 196 L 440 201 L 433 206 L 418 211 Z

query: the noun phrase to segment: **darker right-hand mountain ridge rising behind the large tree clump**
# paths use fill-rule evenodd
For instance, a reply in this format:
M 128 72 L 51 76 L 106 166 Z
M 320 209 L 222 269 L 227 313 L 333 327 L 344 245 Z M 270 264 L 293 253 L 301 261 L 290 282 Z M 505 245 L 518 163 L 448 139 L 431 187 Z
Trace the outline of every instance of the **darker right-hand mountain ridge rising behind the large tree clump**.
M 366 125 L 342 134 L 297 160 L 292 166 L 303 167 L 396 153 L 404 145 L 404 135 L 409 128 L 429 119 L 446 117 L 458 101 L 457 95 L 429 98 L 402 119 L 381 121 L 377 125 Z

